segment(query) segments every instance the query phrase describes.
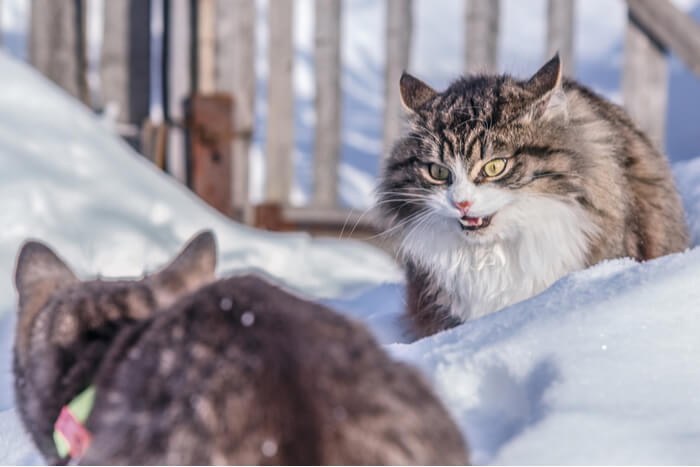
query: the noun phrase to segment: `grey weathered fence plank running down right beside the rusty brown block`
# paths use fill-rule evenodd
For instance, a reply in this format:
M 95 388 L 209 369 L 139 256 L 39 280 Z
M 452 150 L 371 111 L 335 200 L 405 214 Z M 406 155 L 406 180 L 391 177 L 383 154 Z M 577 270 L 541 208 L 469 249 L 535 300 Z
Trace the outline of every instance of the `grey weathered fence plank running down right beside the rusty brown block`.
M 255 123 L 255 0 L 217 1 L 216 85 L 233 96 L 234 217 L 246 223 L 248 201 L 248 157 Z

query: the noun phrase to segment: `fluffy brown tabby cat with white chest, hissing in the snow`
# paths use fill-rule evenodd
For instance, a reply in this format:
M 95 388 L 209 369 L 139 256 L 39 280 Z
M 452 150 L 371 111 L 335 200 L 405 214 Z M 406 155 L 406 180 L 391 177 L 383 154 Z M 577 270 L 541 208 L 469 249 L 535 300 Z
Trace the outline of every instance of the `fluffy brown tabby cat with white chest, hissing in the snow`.
M 562 78 L 400 82 L 410 115 L 377 207 L 399 240 L 408 316 L 430 335 L 618 257 L 688 246 L 666 158 L 618 106 Z

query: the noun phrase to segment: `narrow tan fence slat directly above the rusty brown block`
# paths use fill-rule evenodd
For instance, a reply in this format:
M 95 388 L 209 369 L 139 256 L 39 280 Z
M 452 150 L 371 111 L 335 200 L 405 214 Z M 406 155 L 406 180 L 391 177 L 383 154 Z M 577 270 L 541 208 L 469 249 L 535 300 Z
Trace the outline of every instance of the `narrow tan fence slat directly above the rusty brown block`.
M 197 1 L 197 90 L 216 91 L 216 2 Z

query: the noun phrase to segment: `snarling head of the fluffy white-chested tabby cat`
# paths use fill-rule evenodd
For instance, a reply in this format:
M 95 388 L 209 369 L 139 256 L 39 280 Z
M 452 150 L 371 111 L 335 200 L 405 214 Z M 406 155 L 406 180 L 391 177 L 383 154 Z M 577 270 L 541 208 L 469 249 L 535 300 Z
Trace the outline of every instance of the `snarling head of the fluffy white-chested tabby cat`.
M 571 117 L 580 97 L 558 55 L 527 80 L 469 76 L 437 92 L 404 73 L 400 91 L 409 131 L 385 163 L 377 203 L 399 237 L 484 244 L 585 202 Z

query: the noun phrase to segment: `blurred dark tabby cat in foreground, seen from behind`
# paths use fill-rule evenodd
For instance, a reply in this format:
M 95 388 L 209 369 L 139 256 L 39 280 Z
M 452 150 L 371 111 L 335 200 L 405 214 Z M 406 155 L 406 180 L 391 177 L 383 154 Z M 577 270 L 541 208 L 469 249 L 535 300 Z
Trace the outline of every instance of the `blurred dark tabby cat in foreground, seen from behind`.
M 363 326 L 253 276 L 212 282 L 215 261 L 204 233 L 152 276 L 81 282 L 24 245 L 16 394 L 47 461 L 61 407 L 89 385 L 85 464 L 467 461 L 427 383 Z

